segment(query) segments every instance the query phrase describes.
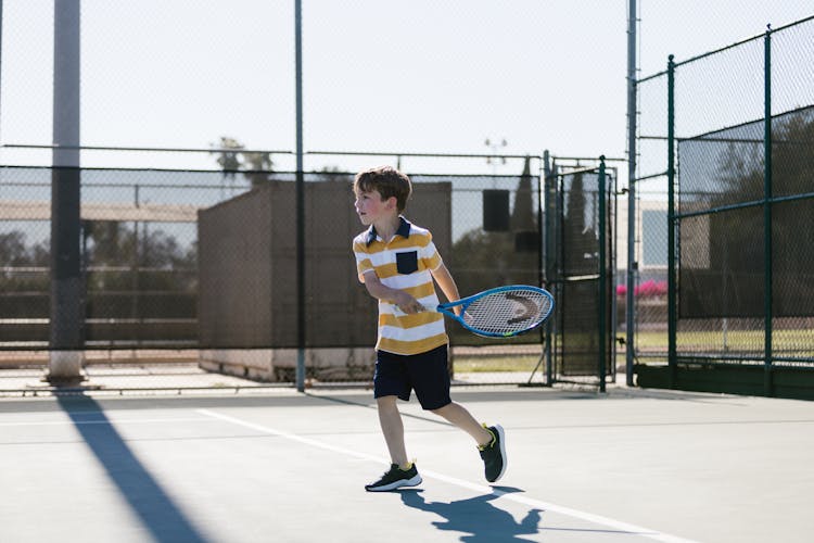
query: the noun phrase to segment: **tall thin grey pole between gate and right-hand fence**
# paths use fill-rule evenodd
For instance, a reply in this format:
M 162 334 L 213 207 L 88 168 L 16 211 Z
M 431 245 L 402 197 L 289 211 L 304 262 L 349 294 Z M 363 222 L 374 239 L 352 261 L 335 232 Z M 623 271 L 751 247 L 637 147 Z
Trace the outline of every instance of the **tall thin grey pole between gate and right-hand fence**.
M 625 293 L 625 376 L 633 387 L 636 301 L 636 0 L 627 0 L 627 292 Z

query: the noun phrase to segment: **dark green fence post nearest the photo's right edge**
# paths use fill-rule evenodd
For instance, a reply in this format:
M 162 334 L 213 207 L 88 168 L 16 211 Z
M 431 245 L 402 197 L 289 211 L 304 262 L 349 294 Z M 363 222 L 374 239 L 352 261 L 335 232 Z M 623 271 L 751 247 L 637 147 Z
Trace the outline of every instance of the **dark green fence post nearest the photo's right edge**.
M 773 395 L 772 379 L 772 27 L 767 26 L 764 39 L 764 101 L 763 101 L 763 310 L 765 331 L 763 339 L 764 393 Z

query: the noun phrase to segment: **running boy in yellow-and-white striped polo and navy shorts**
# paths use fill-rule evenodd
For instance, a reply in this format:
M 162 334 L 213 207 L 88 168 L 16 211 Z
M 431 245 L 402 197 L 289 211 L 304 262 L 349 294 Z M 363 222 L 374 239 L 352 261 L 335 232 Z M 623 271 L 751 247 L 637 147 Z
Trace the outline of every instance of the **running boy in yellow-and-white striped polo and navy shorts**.
M 402 216 L 411 191 L 409 178 L 389 166 L 360 172 L 354 180 L 356 213 L 370 228 L 354 238 L 353 250 L 359 281 L 379 300 L 373 395 L 392 463 L 381 479 L 365 485 L 369 492 L 421 483 L 416 465 L 407 459 L 404 425 L 396 405 L 397 399 L 409 401 L 412 390 L 423 409 L 475 440 L 487 481 L 497 481 L 506 471 L 504 429 L 479 425 L 449 397 L 449 339 L 444 316 L 425 307 L 438 303 L 433 279 L 447 300 L 460 296 L 430 231 Z

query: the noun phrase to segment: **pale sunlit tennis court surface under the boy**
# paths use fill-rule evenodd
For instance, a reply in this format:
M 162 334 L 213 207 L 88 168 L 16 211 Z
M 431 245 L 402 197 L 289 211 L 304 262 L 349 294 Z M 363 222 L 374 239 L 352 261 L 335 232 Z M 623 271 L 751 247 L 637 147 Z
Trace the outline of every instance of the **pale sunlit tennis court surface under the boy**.
M 423 483 L 387 468 L 370 391 L 0 399 L 0 541 L 811 541 L 814 403 L 613 387 L 454 390 L 507 432 L 402 404 Z

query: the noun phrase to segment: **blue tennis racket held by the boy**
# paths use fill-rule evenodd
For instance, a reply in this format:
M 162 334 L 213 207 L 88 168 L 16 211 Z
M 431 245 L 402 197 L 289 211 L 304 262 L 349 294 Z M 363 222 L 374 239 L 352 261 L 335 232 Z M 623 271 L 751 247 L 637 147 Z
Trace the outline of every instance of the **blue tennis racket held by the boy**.
M 460 316 L 455 307 L 460 307 Z M 554 296 L 537 287 L 510 285 L 441 304 L 435 311 L 478 336 L 511 338 L 545 323 L 554 311 Z

